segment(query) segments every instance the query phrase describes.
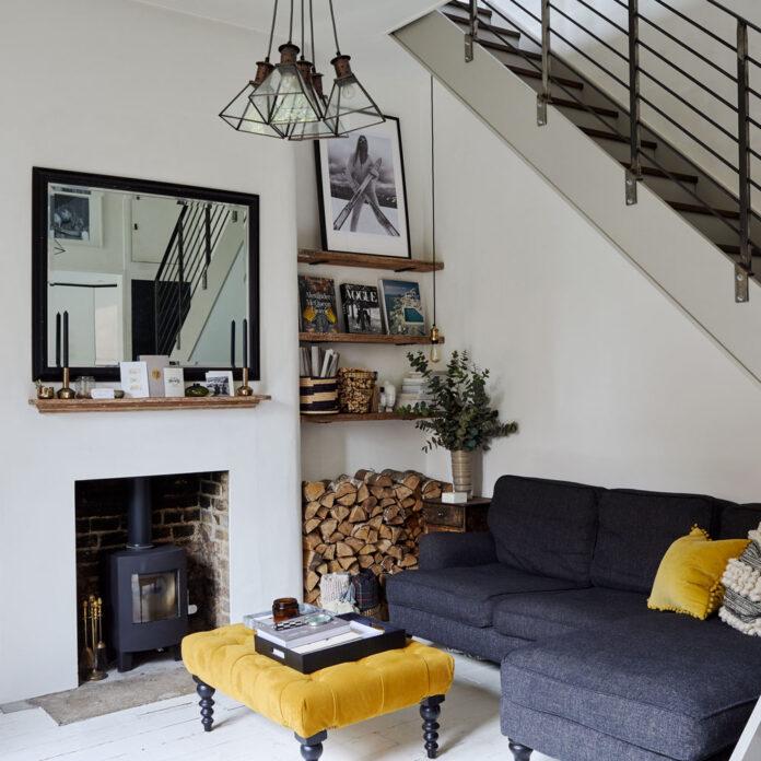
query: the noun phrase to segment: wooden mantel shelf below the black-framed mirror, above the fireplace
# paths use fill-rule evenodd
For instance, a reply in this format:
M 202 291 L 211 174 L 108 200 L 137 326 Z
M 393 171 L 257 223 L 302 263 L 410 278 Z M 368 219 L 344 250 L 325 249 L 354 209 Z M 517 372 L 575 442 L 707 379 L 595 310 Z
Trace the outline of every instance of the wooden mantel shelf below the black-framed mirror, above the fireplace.
M 256 407 L 270 396 L 177 397 L 151 399 L 30 399 L 40 414 L 49 412 L 140 412 L 145 410 L 221 410 Z

